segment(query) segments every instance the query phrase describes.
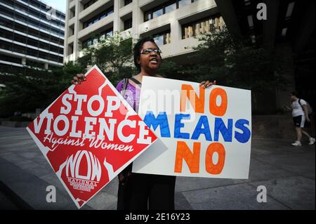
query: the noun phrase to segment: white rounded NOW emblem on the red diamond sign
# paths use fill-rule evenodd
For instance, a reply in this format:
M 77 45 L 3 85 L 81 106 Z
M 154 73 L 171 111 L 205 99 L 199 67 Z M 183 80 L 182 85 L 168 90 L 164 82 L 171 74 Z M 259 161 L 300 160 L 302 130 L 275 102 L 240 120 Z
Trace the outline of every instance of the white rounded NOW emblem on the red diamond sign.
M 83 160 L 84 159 L 84 160 Z M 83 167 L 86 166 L 86 167 Z M 79 173 L 81 171 L 81 173 Z M 86 171 L 83 175 L 82 171 Z M 79 150 L 75 155 L 72 154 L 66 163 L 66 176 L 83 180 L 100 181 L 101 165 L 91 152 Z M 70 174 L 70 175 L 69 175 Z

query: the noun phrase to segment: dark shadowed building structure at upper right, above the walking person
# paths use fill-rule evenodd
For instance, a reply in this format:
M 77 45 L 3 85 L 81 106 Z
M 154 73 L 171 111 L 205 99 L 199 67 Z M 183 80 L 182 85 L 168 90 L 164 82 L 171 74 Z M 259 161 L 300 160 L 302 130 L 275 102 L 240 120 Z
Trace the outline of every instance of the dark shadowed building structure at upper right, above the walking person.
M 310 81 L 315 77 L 315 1 L 216 0 L 216 4 L 228 30 L 272 51 L 279 73 L 287 79 L 286 88 L 262 93 L 258 110 L 282 112 L 291 91 L 315 108 L 316 90 Z M 258 18 L 264 10 L 265 19 Z

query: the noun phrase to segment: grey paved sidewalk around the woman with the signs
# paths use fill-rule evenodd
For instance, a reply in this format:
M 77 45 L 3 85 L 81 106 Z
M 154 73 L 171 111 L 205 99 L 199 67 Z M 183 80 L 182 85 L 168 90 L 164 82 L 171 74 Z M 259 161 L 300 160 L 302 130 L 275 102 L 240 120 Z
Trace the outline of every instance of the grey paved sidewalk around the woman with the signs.
M 23 208 L 77 209 L 25 128 L 0 126 L 0 185 Z M 55 203 L 46 202 L 48 185 Z M 256 200 L 259 185 L 266 203 Z M 114 178 L 81 209 L 116 209 L 117 186 Z M 253 139 L 249 180 L 178 177 L 175 201 L 176 209 L 315 209 L 315 145 Z M 16 209 L 7 203 L 0 194 L 1 209 Z

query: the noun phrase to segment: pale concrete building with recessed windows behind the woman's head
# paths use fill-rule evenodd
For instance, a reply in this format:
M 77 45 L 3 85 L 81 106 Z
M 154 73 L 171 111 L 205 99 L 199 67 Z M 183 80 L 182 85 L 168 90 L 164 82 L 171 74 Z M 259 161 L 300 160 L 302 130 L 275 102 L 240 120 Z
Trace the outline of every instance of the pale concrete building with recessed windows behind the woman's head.
M 162 57 L 192 52 L 194 37 L 223 27 L 213 0 L 67 0 L 64 62 L 77 60 L 94 35 L 151 35 Z M 189 47 L 189 48 L 187 48 Z

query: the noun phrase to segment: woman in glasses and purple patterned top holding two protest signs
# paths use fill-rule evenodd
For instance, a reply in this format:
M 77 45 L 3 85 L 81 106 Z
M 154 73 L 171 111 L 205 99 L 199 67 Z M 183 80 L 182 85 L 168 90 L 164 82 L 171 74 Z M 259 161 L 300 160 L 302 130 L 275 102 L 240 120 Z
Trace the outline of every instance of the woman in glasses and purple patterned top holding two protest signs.
M 145 37 L 134 46 L 134 64 L 138 74 L 123 79 L 117 85 L 117 91 L 124 95 L 126 101 L 138 112 L 140 88 L 143 76 L 161 77 L 157 74 L 162 63 L 160 51 L 154 39 Z M 81 84 L 86 78 L 77 74 L 72 84 Z M 200 86 L 207 88 L 216 81 L 202 81 Z M 174 209 L 175 176 L 162 176 L 143 173 L 132 173 L 132 166 L 119 174 L 119 192 L 117 209 Z

